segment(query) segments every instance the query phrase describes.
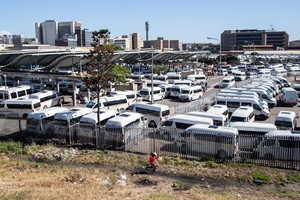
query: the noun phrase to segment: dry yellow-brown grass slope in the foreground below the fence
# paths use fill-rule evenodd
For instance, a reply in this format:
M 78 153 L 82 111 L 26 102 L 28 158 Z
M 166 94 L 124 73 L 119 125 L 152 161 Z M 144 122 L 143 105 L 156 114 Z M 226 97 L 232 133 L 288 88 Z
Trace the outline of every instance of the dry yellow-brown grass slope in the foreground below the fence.
M 33 159 L 39 149 L 30 148 L 27 155 L 0 155 L 0 199 L 300 198 L 300 172 L 297 171 L 236 164 L 209 167 L 211 163 L 207 166 L 205 162 L 163 157 L 158 161 L 157 175 L 131 175 L 134 169 L 145 166 L 148 155 L 80 151 L 77 157 L 65 161 L 41 163 Z M 270 175 L 269 184 L 253 185 L 252 175 L 262 172 Z M 125 186 L 118 183 L 121 174 L 126 175 Z M 157 185 L 137 184 L 141 179 Z M 109 184 L 103 184 L 106 180 Z M 288 187 L 291 182 L 295 185 Z M 282 189 L 280 183 L 286 187 Z

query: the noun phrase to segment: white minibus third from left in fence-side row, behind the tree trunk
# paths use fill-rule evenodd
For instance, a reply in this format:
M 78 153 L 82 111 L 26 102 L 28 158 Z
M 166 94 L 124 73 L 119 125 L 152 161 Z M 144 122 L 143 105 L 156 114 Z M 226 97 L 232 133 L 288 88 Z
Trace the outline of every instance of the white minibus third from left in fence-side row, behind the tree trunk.
M 79 121 L 78 141 L 80 143 L 96 143 L 102 138 L 97 138 L 97 127 L 104 126 L 106 122 L 117 116 L 119 113 L 116 110 L 102 109 L 99 111 L 100 123 L 98 122 L 98 112 L 94 111 L 81 117 Z M 98 129 L 99 130 L 99 129 Z M 100 136 L 100 134 L 98 134 Z M 97 139 L 97 140 L 96 140 Z

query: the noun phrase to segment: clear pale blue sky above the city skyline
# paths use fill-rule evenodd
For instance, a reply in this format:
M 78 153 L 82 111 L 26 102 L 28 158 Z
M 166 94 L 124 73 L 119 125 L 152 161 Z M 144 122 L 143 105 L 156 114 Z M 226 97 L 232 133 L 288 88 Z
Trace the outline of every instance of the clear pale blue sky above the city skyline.
M 112 38 L 139 32 L 149 38 L 212 42 L 224 30 L 274 28 L 300 39 L 299 0 L 14 0 L 1 2 L 0 34 L 35 37 L 35 22 L 81 21 L 84 28 L 107 28 Z

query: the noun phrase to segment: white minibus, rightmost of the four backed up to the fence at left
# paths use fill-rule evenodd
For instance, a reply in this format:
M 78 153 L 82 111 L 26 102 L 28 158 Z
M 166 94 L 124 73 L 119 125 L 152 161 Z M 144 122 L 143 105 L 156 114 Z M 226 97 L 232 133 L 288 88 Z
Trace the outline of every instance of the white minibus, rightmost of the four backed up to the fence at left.
M 146 126 L 147 119 L 142 114 L 124 112 L 106 122 L 104 140 L 113 147 L 130 145 Z

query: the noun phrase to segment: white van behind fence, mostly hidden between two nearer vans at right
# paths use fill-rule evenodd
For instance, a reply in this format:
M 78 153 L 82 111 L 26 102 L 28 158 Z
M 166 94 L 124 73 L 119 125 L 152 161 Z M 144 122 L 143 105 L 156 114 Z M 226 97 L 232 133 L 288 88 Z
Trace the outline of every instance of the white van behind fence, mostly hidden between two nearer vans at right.
M 230 126 L 239 132 L 240 150 L 251 154 L 266 133 L 277 130 L 271 123 L 232 122 Z

